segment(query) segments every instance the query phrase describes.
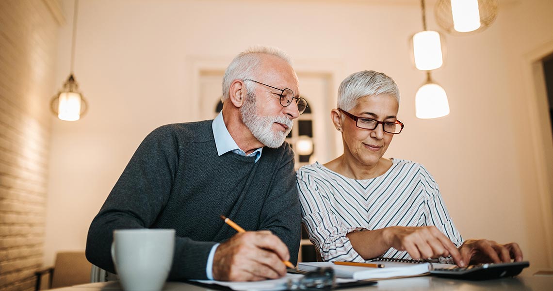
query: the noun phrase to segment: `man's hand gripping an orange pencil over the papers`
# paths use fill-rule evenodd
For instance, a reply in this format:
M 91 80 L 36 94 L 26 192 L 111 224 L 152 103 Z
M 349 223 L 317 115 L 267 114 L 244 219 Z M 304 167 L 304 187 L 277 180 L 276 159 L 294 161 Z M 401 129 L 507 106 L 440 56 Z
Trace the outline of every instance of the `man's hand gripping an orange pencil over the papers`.
M 221 243 L 213 256 L 213 279 L 257 281 L 276 279 L 286 274 L 288 247 L 270 231 L 237 233 Z

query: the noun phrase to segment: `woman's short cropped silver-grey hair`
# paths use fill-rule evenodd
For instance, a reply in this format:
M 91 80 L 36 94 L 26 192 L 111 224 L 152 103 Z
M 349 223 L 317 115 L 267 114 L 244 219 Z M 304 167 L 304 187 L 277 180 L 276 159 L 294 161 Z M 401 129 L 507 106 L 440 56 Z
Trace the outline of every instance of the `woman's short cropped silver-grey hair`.
M 394 79 L 377 71 L 361 71 L 349 75 L 338 88 L 338 108 L 348 111 L 365 96 L 387 94 L 395 97 L 399 104 L 399 89 Z

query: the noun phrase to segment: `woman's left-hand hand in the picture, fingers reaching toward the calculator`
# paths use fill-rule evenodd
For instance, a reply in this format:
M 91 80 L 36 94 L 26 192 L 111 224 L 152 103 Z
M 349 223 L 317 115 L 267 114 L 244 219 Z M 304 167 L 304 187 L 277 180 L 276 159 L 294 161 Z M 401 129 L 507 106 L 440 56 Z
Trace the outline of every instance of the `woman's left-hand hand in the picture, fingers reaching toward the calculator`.
M 413 259 L 426 259 L 451 256 L 461 267 L 468 260 L 461 257 L 457 247 L 435 226 L 407 227 L 392 226 L 385 228 L 387 245 L 398 251 L 406 251 Z

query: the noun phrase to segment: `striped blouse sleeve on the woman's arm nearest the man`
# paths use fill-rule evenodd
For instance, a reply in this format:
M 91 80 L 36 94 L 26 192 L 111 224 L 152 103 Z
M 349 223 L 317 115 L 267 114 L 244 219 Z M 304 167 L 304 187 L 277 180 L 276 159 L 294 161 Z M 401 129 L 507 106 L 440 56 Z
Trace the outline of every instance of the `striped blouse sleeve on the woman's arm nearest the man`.
M 349 232 L 365 230 L 344 225 L 333 211 L 328 193 L 321 190 L 310 170 L 298 171 L 298 193 L 301 204 L 301 221 L 309 232 L 309 239 L 319 251 L 323 261 L 364 262 L 346 237 Z M 321 187 L 322 188 L 322 187 Z

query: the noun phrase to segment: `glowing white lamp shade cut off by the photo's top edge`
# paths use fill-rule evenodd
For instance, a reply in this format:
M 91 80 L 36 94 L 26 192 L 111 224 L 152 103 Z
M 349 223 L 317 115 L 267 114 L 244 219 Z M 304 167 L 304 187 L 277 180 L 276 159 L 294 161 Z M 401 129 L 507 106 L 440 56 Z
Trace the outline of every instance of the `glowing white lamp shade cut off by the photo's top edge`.
M 478 0 L 451 0 L 453 28 L 458 32 L 472 32 L 480 28 Z

